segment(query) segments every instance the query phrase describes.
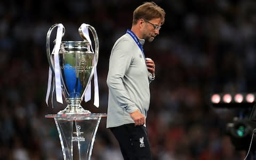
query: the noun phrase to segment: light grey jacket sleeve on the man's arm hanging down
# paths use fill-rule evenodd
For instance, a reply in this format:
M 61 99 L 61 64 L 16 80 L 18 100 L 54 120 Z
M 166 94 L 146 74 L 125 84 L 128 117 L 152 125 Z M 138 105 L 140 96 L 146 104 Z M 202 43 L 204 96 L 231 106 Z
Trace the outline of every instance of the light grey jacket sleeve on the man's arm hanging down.
M 127 94 L 123 83 L 124 75 L 132 61 L 132 47 L 127 39 L 116 42 L 111 51 L 107 76 L 109 92 L 119 106 L 125 108 L 129 114 L 138 109 Z

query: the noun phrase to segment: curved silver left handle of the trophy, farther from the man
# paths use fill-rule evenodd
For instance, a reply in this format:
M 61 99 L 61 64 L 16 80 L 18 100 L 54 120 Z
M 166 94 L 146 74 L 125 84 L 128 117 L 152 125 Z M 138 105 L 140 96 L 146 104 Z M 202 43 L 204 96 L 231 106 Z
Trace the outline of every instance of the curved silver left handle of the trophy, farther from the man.
M 47 55 L 47 60 L 48 60 L 49 66 L 51 67 L 51 70 L 52 70 L 53 74 L 55 74 L 55 73 L 54 73 L 54 67 L 53 67 L 54 61 L 51 58 L 50 37 L 51 37 L 52 30 L 55 27 L 59 26 L 60 24 L 61 23 L 57 23 L 57 24 L 52 25 L 52 27 L 50 27 L 50 29 L 48 30 L 47 35 L 46 35 L 46 55 Z M 65 34 L 65 28 L 63 27 L 62 37 L 63 37 L 64 34 Z

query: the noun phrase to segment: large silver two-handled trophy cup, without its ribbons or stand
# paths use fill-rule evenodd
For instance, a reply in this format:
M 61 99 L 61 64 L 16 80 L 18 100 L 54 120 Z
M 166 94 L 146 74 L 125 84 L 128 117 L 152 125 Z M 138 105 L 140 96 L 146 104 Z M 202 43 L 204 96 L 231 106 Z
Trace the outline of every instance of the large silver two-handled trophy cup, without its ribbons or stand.
M 83 109 L 81 101 L 93 77 L 94 68 L 98 63 L 99 40 L 97 33 L 92 26 L 87 25 L 94 38 L 95 52 L 92 49 L 91 40 L 89 41 L 90 37 L 89 39 L 86 38 L 81 28 L 82 26 L 78 29 L 78 32 L 84 41 L 61 41 L 60 46 L 56 46 L 58 44 L 55 39 L 54 48 L 60 48 L 58 53 L 59 62 L 56 62 L 50 50 L 50 36 L 52 30 L 59 25 L 53 25 L 46 36 L 47 59 L 54 75 L 55 65 L 59 65 L 61 90 L 68 104 L 58 114 L 91 114 L 89 110 Z M 63 28 L 62 36 L 64 34 L 65 28 Z

